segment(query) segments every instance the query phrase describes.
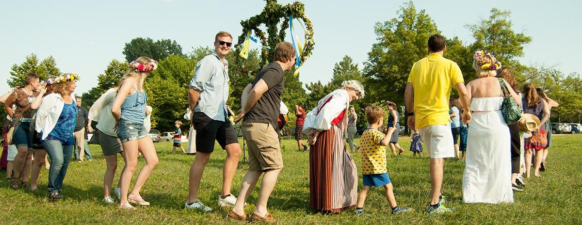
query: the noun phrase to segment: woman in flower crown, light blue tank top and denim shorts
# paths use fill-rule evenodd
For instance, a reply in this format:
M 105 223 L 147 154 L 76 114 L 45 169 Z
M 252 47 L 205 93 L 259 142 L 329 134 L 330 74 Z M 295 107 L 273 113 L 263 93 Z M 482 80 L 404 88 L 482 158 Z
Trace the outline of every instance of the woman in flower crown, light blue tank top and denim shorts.
M 140 190 L 150 177 L 154 167 L 158 164 L 158 155 L 155 153 L 154 143 L 148 136 L 148 129 L 144 126 L 147 110 L 147 95 L 143 89 L 145 77 L 158 67 L 158 62 L 141 56 L 129 63 L 129 70 L 119 81 L 117 96 L 111 106 L 113 118 L 117 121 L 116 130 L 123 146 L 123 160 L 125 167 L 120 177 L 119 209 L 135 209 L 129 202 L 137 205 L 150 205 L 150 202 L 141 198 Z M 137 166 L 137 152 L 145 158 L 145 166 L 137 175 L 132 192 L 129 192 L 129 183 Z

